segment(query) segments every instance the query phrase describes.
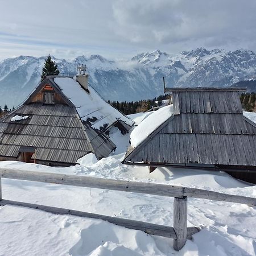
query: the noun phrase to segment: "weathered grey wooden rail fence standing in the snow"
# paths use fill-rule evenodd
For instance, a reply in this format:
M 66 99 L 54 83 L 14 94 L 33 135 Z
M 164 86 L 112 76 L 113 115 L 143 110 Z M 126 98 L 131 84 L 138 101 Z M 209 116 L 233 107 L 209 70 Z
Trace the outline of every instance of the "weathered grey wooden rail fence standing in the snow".
M 29 204 L 2 198 L 1 177 L 17 180 L 37 181 L 44 183 L 72 185 L 77 187 L 89 187 L 110 189 L 114 191 L 125 191 L 134 193 L 144 193 L 156 196 L 174 197 L 174 227 L 150 224 L 142 221 L 126 220 L 104 216 L 100 214 L 80 212 L 77 210 L 48 207 L 46 205 Z M 121 181 L 112 179 L 102 179 L 96 177 L 86 177 L 79 175 L 52 174 L 45 172 L 18 171 L 0 168 L 0 205 L 18 205 L 21 207 L 29 207 L 44 210 L 46 212 L 56 214 L 73 214 L 81 217 L 100 218 L 119 226 L 125 226 L 130 229 L 142 230 L 148 234 L 169 237 L 174 239 L 174 249 L 180 250 L 187 239 L 191 239 L 192 235 L 199 232 L 199 228 L 187 227 L 187 198 L 209 199 L 216 201 L 226 201 L 232 203 L 247 204 L 251 207 L 256 205 L 256 198 L 227 195 L 213 191 L 206 191 L 197 188 L 179 187 L 173 185 L 142 183 L 134 181 Z

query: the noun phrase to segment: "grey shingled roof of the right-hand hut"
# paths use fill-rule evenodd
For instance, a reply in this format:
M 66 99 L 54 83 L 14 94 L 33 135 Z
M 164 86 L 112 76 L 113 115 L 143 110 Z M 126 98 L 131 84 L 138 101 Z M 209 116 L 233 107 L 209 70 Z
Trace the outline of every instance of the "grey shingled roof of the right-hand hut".
M 243 117 L 238 90 L 174 88 L 172 100 L 174 114 L 123 163 L 256 166 L 256 125 Z

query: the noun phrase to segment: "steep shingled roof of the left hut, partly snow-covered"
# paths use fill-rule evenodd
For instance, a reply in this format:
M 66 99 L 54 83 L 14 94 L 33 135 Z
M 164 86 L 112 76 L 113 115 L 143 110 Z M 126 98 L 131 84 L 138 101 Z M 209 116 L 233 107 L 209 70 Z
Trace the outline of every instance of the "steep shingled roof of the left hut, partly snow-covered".
M 43 104 L 45 86 L 55 94 L 52 105 Z M 70 77 L 47 77 L 20 108 L 0 120 L 0 156 L 17 158 L 20 147 L 28 146 L 46 162 L 75 164 L 89 152 L 101 159 L 116 147 L 105 132 L 117 124 L 129 130 L 133 122 L 92 88 L 87 92 Z

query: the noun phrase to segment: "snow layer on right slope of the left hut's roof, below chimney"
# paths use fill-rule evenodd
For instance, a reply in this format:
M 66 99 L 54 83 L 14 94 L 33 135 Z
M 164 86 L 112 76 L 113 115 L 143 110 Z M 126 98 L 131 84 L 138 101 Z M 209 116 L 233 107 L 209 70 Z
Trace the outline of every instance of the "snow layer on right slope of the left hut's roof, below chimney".
M 88 85 L 89 93 L 82 89 L 79 82 L 70 77 L 56 77 L 55 83 L 59 86 L 65 96 L 75 105 L 80 118 L 89 121 L 92 127 L 113 125 L 117 119 L 133 126 L 133 121 L 108 104 L 91 86 Z

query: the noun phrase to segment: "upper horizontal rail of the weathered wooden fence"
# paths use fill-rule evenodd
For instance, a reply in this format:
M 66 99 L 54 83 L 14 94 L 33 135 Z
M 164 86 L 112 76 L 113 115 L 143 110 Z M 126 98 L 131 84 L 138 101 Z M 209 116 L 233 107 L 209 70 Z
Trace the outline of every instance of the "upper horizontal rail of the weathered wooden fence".
M 0 177 L 17 180 L 30 180 L 43 183 L 73 185 L 77 187 L 89 187 L 124 192 L 144 193 L 156 196 L 169 196 L 179 198 L 187 196 L 256 206 L 256 198 L 253 197 L 228 195 L 225 193 L 206 191 L 198 188 L 186 188 L 174 185 L 112 180 L 97 177 L 53 174 L 24 170 L 18 171 L 3 168 L 0 168 Z

